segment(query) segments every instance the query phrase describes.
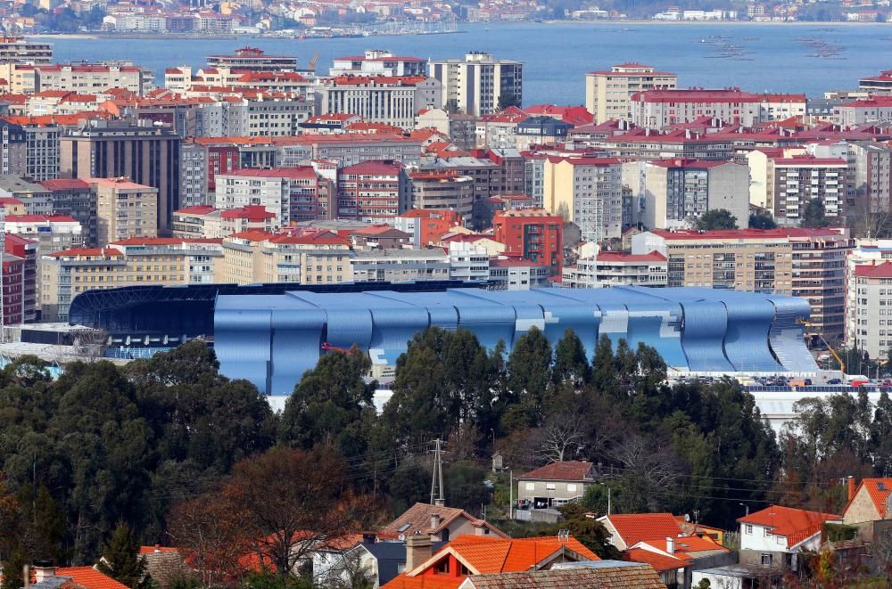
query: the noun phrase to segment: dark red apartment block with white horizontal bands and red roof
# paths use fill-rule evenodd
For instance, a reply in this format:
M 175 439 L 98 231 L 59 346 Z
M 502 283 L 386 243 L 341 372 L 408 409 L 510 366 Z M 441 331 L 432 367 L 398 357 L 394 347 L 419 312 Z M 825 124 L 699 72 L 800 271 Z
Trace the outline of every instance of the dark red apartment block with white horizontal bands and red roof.
M 399 161 L 365 161 L 341 168 L 337 177 L 337 218 L 385 223 L 410 209 L 406 167 Z

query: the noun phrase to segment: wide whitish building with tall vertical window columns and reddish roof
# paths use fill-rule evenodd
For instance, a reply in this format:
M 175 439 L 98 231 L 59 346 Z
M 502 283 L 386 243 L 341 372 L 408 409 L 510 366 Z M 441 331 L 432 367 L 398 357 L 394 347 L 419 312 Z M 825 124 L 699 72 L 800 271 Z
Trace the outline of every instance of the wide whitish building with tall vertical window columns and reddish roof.
M 442 105 L 442 85 L 421 76 L 338 76 L 314 88 L 318 114 L 359 115 L 370 122 L 415 127 L 415 113 Z

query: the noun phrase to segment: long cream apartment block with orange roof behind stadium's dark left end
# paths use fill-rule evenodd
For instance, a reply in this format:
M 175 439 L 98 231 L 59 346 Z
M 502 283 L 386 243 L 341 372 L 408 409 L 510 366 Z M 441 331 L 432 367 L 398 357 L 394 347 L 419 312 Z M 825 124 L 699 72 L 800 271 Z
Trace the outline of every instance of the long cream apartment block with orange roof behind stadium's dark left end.
M 135 238 L 57 251 L 40 263 L 41 316 L 68 321 L 71 300 L 86 290 L 213 282 L 221 258 L 219 240 Z

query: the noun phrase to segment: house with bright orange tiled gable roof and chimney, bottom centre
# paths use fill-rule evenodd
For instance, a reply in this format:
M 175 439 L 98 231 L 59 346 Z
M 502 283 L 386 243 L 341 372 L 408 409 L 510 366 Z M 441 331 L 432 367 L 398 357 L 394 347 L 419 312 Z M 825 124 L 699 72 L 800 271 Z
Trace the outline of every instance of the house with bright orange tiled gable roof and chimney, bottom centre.
M 431 536 L 409 536 L 406 571 L 384 589 L 458 589 L 468 577 L 548 570 L 568 561 L 599 560 L 573 536 L 457 536 L 436 552 L 433 545 Z

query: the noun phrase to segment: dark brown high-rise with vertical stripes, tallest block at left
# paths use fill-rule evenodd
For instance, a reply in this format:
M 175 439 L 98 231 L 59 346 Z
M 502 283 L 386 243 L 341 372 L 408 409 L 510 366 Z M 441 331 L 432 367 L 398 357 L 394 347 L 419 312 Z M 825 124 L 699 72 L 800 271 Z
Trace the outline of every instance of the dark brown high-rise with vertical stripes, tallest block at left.
M 179 206 L 179 145 L 176 132 L 163 127 L 107 124 L 70 130 L 62 137 L 60 171 L 67 178 L 127 177 L 158 189 L 156 223 L 170 232 Z

